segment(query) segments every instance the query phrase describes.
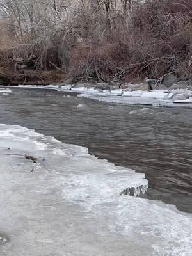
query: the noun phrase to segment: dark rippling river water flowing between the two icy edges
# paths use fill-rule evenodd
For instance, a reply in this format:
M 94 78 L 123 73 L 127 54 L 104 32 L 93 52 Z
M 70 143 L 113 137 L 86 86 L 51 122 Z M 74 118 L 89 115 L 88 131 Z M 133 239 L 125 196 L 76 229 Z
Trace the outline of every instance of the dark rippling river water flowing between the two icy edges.
M 12 88 L 10 95 L 0 95 L 0 123 L 35 129 L 143 172 L 149 182 L 145 197 L 192 212 L 192 109 L 113 105 L 63 95 Z

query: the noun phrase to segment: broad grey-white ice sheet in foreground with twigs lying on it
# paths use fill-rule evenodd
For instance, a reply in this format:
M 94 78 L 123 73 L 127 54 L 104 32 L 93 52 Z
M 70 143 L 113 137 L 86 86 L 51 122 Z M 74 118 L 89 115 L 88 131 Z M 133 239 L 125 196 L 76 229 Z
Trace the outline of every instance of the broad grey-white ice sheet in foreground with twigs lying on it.
M 191 214 L 129 196 L 147 190 L 143 173 L 4 124 L 0 161 L 1 255 L 192 255 Z

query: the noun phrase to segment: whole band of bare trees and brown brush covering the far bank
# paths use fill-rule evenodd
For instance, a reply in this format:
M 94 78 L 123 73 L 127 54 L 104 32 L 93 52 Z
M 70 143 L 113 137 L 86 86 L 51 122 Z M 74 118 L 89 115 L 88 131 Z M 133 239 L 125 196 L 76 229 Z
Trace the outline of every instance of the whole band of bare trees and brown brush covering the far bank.
M 191 0 L 0 0 L 0 8 L 0 75 L 12 83 L 191 78 Z

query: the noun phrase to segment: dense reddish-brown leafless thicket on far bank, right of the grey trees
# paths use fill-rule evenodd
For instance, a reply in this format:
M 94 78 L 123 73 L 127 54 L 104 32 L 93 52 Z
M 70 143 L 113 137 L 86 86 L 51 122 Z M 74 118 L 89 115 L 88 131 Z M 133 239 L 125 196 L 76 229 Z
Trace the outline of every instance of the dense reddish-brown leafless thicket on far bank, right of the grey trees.
M 101 42 L 77 45 L 70 70 L 105 81 L 159 78 L 170 72 L 191 77 L 191 13 L 191 1 L 154 0 L 138 5 L 129 22 L 116 19 Z

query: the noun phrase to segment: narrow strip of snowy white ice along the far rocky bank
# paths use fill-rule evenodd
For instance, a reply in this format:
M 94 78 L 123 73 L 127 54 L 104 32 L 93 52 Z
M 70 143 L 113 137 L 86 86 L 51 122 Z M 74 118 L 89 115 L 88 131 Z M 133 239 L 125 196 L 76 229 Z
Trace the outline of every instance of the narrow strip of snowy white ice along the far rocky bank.
M 150 92 L 143 90 L 122 90 L 116 89 L 104 90 L 99 92 L 95 88 L 73 88 L 67 86 L 19 86 L 22 88 L 38 88 L 38 89 L 51 89 L 60 92 L 76 92 L 79 93 L 78 97 L 86 97 L 93 100 L 102 102 L 118 103 L 118 104 L 132 104 L 132 105 L 151 105 L 157 107 L 179 107 L 179 108 L 192 108 L 192 91 L 189 90 L 152 90 Z

